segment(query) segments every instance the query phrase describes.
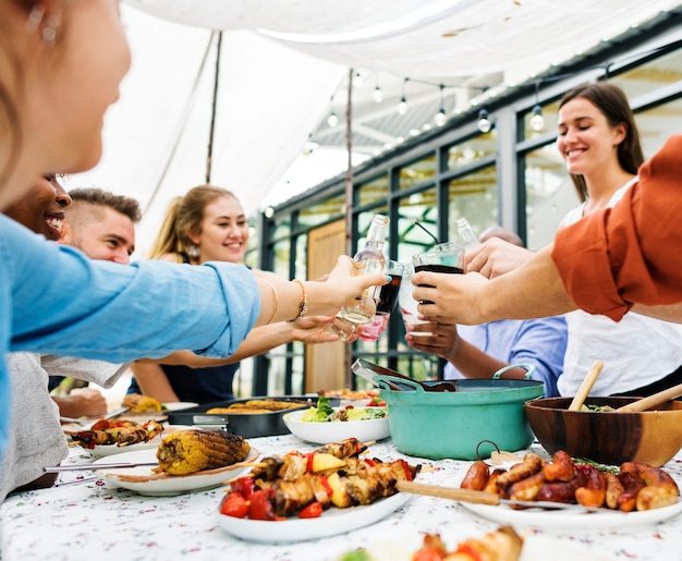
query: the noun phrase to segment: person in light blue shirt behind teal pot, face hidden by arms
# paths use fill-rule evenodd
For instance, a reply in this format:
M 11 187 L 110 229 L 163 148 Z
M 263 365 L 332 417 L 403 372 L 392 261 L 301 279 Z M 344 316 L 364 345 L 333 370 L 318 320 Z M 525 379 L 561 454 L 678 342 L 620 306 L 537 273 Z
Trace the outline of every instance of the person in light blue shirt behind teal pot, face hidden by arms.
M 494 227 L 480 235 L 485 242 L 500 237 L 523 247 L 522 240 L 509 230 Z M 415 336 L 426 331 L 433 336 Z M 491 378 L 511 364 L 535 366 L 532 379 L 545 382 L 545 395 L 558 395 L 557 379 L 563 371 L 568 328 L 563 316 L 543 319 L 502 319 L 478 326 L 423 324 L 411 326 L 405 336 L 407 344 L 448 361 L 446 379 Z M 521 379 L 524 368 L 512 368 L 502 378 Z

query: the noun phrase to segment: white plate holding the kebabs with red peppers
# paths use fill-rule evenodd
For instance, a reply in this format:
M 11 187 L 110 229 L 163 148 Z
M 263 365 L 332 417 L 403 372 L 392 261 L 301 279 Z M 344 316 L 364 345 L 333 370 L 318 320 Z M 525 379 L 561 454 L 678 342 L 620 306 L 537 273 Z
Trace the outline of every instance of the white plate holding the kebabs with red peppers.
M 292 517 L 284 521 L 235 519 L 221 514 L 218 508 L 218 525 L 228 534 L 249 541 L 263 544 L 304 541 L 345 534 L 379 522 L 411 498 L 412 496 L 406 492 L 399 492 L 366 507 L 349 509 L 330 507 L 318 519 Z

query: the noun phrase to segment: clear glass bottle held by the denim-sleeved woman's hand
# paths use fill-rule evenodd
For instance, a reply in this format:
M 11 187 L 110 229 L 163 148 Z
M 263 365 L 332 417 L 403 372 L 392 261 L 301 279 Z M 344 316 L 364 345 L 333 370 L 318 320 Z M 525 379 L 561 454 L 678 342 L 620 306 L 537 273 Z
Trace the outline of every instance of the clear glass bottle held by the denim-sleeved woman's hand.
M 354 260 L 365 264 L 365 267 L 361 269 L 362 275 L 383 272 L 383 267 L 386 266 L 383 245 L 386 244 L 387 233 L 388 217 L 375 215 L 367 232 L 365 245 L 353 257 Z M 369 324 L 377 310 L 374 300 L 375 290 L 376 286 L 369 286 L 356 304 L 341 308 L 341 317 L 355 325 Z

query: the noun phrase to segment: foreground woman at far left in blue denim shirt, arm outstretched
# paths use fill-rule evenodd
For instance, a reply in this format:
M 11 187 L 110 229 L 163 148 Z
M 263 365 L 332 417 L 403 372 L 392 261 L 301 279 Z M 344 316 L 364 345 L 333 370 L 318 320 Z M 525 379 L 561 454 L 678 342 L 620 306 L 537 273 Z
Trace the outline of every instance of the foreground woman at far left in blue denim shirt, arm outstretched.
M 131 52 L 118 0 L 0 0 L 0 13 L 2 210 L 40 176 L 97 163 L 103 114 Z M 325 282 L 256 279 L 224 263 L 93 261 L 0 216 L 0 453 L 10 423 L 8 352 L 121 363 L 186 349 L 226 357 L 255 325 L 306 312 L 333 316 L 387 282 L 355 272 L 346 256 Z

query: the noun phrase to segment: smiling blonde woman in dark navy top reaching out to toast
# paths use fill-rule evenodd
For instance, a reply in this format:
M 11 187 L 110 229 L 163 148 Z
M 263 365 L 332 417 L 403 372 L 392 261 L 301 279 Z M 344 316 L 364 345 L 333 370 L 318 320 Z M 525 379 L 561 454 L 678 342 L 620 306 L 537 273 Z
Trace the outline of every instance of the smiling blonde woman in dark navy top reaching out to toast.
M 191 188 L 171 203 L 149 258 L 187 265 L 206 261 L 242 263 L 248 243 L 244 209 L 228 190 L 214 185 Z M 271 273 L 254 271 L 271 278 Z M 135 375 L 129 393 L 144 393 L 162 403 L 191 401 L 212 403 L 234 399 L 233 379 L 240 358 L 266 352 L 291 341 L 308 343 L 336 341 L 325 326 L 329 318 L 306 318 L 306 322 L 279 322 L 254 329 L 244 345 L 227 361 L 206 361 L 192 353 L 174 353 L 159 363 L 132 365 Z M 303 325 L 302 325 L 303 324 Z M 307 329 L 306 329 L 307 328 Z

